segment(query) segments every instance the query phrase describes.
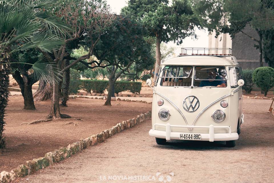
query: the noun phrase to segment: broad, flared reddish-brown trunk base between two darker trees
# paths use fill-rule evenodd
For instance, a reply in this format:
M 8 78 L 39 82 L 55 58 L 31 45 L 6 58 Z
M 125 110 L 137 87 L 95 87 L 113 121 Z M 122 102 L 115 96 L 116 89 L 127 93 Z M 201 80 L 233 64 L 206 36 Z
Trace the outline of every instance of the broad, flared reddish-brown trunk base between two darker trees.
M 44 78 L 41 78 L 39 81 L 39 87 L 33 98 L 35 101 L 45 101 L 51 99 L 53 92 L 53 86 L 51 83 L 47 82 Z

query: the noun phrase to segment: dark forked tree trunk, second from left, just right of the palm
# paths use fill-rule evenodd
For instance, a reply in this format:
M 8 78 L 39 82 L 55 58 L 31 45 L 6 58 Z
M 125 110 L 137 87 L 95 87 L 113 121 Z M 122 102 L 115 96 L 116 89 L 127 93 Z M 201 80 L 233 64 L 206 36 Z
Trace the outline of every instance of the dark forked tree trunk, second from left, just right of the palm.
M 17 81 L 21 89 L 21 94 L 24 98 L 24 109 L 35 110 L 32 85 L 36 81 L 33 81 L 33 78 L 29 77 L 29 75 L 24 75 L 24 77 L 21 77 L 19 71 L 15 71 L 12 76 Z

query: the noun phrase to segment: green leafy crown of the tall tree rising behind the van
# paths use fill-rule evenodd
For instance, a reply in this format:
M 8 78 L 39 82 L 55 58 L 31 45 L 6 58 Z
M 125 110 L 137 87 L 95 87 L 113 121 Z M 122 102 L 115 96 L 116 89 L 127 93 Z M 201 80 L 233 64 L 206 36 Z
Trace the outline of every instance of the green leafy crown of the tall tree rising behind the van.
M 164 42 L 181 44 L 184 38 L 196 36 L 194 27 L 200 25 L 188 0 L 129 0 L 122 14 L 130 11 L 142 20 L 150 36 Z

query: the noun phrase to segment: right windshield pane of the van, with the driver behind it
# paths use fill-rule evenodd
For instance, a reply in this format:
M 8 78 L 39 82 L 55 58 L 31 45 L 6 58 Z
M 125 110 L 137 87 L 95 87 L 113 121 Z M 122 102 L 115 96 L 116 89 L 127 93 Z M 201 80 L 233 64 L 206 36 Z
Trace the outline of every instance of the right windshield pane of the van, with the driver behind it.
M 195 67 L 194 86 L 227 87 L 225 67 Z

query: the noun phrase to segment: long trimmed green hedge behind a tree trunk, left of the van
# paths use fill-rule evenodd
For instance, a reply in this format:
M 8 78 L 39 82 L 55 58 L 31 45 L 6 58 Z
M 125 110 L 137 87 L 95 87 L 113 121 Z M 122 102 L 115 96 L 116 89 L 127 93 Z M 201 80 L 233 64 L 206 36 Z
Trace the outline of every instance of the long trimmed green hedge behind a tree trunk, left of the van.
M 97 79 L 88 79 L 81 81 L 81 88 L 86 92 L 91 93 L 104 93 L 105 89 L 108 89 L 108 81 L 97 80 Z M 140 94 L 142 83 L 141 82 L 131 82 L 131 81 L 116 81 L 115 82 L 115 93 L 124 92 L 129 90 L 132 93 Z

